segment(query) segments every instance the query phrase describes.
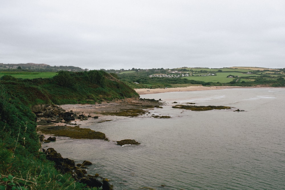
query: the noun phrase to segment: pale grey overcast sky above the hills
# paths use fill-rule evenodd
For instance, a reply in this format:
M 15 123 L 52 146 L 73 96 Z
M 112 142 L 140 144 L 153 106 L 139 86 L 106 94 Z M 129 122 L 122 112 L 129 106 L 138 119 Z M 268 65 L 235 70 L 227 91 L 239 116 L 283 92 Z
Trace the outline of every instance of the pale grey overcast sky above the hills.
M 3 0 L 0 63 L 285 68 L 285 1 Z

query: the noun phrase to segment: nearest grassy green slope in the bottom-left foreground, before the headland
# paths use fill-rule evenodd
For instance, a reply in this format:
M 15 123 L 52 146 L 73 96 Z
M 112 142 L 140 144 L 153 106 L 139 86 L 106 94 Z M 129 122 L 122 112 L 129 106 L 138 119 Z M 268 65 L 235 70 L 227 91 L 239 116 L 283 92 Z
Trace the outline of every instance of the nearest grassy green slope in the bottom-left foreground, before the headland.
M 0 189 L 89 189 L 45 159 L 34 113 L 0 87 Z

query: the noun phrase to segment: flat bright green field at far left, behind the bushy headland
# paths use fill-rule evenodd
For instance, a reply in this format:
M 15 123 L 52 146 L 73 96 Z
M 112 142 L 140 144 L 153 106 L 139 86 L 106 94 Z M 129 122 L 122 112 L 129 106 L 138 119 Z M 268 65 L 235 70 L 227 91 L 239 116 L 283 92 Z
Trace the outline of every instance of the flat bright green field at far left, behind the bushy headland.
M 23 79 L 34 79 L 34 78 L 51 78 L 55 76 L 56 72 L 14 72 L 14 71 L 4 71 L 0 72 L 0 77 L 4 75 L 11 75 L 15 78 Z

